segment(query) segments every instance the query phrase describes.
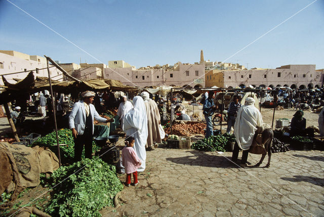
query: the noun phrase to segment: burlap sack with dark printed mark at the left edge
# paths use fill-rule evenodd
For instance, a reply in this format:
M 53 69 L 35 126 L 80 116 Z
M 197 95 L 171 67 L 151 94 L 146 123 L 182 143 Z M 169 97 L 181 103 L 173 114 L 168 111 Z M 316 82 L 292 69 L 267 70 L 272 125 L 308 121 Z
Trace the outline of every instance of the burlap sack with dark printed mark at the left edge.
M 19 182 L 22 187 L 35 187 L 39 185 L 39 155 L 32 148 L 24 145 L 14 145 L 7 142 L 0 143 L 0 149 L 8 150 L 16 163 Z

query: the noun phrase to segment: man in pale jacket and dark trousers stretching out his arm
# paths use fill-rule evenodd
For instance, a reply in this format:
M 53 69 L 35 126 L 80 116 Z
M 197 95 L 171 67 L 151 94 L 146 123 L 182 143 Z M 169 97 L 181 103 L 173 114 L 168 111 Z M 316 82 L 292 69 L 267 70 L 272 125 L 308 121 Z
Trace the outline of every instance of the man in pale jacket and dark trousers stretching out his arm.
M 106 119 L 100 117 L 92 105 L 95 93 L 86 91 L 81 93 L 83 100 L 78 101 L 73 105 L 72 111 L 69 115 L 69 127 L 72 129 L 74 137 L 74 159 L 75 161 L 81 160 L 83 146 L 85 145 L 86 158 L 91 158 L 92 154 L 92 140 L 94 132 L 93 120 L 99 122 L 111 122 L 113 119 Z

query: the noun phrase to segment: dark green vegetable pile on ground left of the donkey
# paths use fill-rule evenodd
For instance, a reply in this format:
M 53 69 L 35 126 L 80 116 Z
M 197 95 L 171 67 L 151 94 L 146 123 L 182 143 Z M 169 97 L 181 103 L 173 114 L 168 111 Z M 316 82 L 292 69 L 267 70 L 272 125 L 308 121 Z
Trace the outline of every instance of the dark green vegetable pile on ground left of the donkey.
M 191 145 L 191 149 L 199 151 L 222 151 L 225 152 L 228 138 L 223 135 L 210 136 Z

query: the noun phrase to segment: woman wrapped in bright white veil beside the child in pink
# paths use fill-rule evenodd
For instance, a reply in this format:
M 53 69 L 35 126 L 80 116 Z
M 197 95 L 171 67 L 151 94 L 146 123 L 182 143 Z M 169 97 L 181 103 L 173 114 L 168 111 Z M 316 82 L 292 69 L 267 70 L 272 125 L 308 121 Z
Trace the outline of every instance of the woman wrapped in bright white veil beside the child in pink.
M 132 136 L 135 138 L 134 149 L 137 156 L 141 159 L 142 162 L 137 171 L 142 172 L 145 170 L 146 160 L 145 144 L 148 135 L 147 116 L 142 97 L 134 97 L 133 103 L 134 108 L 124 116 L 123 131 L 126 133 L 126 137 Z

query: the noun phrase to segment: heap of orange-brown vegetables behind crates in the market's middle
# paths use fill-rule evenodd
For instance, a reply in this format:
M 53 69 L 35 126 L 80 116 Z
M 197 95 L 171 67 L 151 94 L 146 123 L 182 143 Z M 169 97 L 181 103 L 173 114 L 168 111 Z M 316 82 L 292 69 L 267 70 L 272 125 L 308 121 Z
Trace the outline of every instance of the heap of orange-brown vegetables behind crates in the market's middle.
M 187 123 L 187 124 L 174 124 L 172 125 L 172 133 L 178 136 L 190 137 L 191 134 L 205 134 L 206 123 Z M 165 129 L 166 134 L 170 134 L 171 128 Z

